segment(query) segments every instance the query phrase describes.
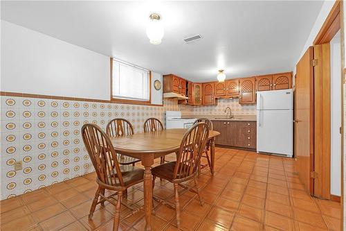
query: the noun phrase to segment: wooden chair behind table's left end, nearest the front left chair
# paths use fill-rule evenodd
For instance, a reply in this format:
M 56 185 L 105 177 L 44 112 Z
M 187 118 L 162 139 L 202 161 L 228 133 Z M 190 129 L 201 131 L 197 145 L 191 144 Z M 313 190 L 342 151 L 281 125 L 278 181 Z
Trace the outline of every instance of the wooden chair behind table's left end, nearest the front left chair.
M 134 135 L 134 128 L 127 119 L 116 118 L 109 121 L 106 127 L 106 132 L 109 137 L 123 137 L 125 135 Z M 134 164 L 140 160 L 134 157 L 117 154 L 118 162 L 121 165 Z

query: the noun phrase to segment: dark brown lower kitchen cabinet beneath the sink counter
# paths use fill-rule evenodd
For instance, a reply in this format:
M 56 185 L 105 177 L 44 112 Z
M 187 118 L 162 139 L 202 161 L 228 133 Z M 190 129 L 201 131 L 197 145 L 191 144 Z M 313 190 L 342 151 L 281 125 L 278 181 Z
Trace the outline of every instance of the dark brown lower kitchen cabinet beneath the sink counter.
M 220 132 L 215 144 L 237 148 L 256 149 L 256 121 L 212 121 L 214 130 Z

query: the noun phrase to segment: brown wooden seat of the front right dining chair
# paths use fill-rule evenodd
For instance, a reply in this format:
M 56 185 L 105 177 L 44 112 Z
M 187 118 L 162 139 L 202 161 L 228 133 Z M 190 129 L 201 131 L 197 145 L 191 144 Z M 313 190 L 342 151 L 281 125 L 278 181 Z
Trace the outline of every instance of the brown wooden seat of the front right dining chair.
M 174 182 L 174 168 L 176 165 L 176 161 L 174 162 L 167 162 L 165 164 L 158 165 L 154 168 L 152 168 L 152 175 L 156 176 L 158 178 L 163 178 L 165 180 L 169 180 L 170 182 Z M 188 168 L 186 164 L 181 164 L 180 168 Z M 186 175 L 186 174 L 185 174 Z M 176 180 L 179 181 L 186 176 L 178 175 L 176 176 Z

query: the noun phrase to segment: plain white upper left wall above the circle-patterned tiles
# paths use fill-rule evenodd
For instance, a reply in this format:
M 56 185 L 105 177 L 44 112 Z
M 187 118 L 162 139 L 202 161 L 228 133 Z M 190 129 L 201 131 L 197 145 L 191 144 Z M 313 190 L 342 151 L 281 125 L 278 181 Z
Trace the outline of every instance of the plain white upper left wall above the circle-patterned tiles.
M 1 20 L 1 91 L 110 99 L 109 57 Z M 153 81 L 161 74 L 152 74 Z M 154 83 L 154 82 L 153 82 Z M 152 90 L 162 104 L 162 90 Z

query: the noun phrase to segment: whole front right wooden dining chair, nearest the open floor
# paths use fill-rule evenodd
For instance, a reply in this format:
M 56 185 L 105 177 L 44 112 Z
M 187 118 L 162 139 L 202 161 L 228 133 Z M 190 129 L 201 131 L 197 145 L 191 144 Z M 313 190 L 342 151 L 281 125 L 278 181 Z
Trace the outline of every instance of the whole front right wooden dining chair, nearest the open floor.
M 163 178 L 174 184 L 174 196 L 175 196 L 175 209 L 176 209 L 176 223 L 180 228 L 180 205 L 179 205 L 179 191 L 178 186 L 182 186 L 185 189 L 192 190 L 192 187 L 196 187 L 194 191 L 199 196 L 199 202 L 203 205 L 203 200 L 199 194 L 199 187 L 197 185 L 197 170 L 201 159 L 201 154 L 206 147 L 208 140 L 209 127 L 206 123 L 197 123 L 186 132 L 181 141 L 179 151 L 176 153 L 176 162 L 168 162 L 152 168 L 152 184 L 154 189 L 155 178 Z M 194 185 L 187 186 L 181 184 L 194 180 Z

